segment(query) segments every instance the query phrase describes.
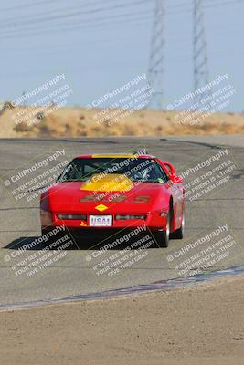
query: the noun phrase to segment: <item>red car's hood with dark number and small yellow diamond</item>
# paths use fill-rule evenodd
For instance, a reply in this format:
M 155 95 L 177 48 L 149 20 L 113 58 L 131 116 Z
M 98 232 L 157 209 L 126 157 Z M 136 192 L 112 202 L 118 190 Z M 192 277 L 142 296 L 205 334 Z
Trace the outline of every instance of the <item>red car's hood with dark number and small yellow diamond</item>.
M 87 183 L 63 182 L 49 188 L 47 195 L 51 212 L 133 214 L 167 209 L 170 193 L 167 183 L 131 182 L 126 190 L 100 191 L 89 190 Z

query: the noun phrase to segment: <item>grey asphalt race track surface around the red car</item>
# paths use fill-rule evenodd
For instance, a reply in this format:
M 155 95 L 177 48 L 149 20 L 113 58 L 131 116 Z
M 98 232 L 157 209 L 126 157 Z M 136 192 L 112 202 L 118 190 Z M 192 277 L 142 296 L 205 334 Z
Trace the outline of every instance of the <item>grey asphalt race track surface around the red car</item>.
M 214 166 L 217 167 L 220 163 L 226 163 L 225 169 L 228 169 L 228 166 L 234 166 L 234 168 L 232 167 L 225 183 L 219 183 L 216 188 L 209 189 L 196 199 L 189 199 L 189 197 L 196 196 L 201 189 L 196 189 L 195 193 L 188 196 L 184 240 L 171 240 L 168 248 L 154 246 L 147 250 L 146 257 L 109 277 L 106 273 L 97 275 L 93 267 L 95 260 L 93 262 L 90 259 L 92 253 L 97 250 L 92 244 L 97 237 L 86 235 L 79 245 L 74 245 L 72 249 L 65 251 L 65 255 L 55 263 L 27 277 L 24 267 L 27 263 L 35 261 L 33 255 L 36 254 L 40 258 L 47 254 L 41 249 L 27 249 L 19 251 L 17 259 L 13 258 L 16 257 L 18 248 L 26 245 L 27 242 L 33 242 L 40 236 L 38 193 L 35 191 L 23 194 L 33 186 L 32 179 L 36 177 L 36 182 L 42 182 L 47 176 L 50 177 L 52 167 L 59 162 L 70 161 L 79 154 L 130 152 L 143 146 L 149 153 L 162 158 L 163 161 L 175 164 L 176 171 L 180 174 L 188 171 L 186 183 L 194 182 L 197 176 L 204 175 L 202 180 L 200 179 L 198 183 L 194 182 L 191 188 L 206 182 L 208 170 Z M 206 237 L 209 233 L 216 232 L 219 227 L 222 227 L 220 231 L 224 230 L 224 226 L 228 226 L 228 235 L 233 237 L 235 245 L 229 248 L 228 255 L 219 259 L 216 265 L 209 266 L 209 270 L 243 265 L 243 146 L 244 137 L 242 136 L 0 140 L 0 304 L 69 297 L 175 278 L 179 276 L 179 272 L 175 269 L 175 259 L 171 260 L 170 257 L 175 257 L 175 253 L 179 255 L 182 247 L 196 242 L 201 237 Z M 48 160 L 48 156 L 62 150 L 64 154 L 59 155 L 57 160 Z M 197 164 L 209 161 L 211 156 L 217 154 L 221 157 L 217 162 L 211 160 L 210 167 L 205 165 L 198 171 L 189 172 L 190 168 L 196 168 Z M 47 166 L 43 165 L 31 171 L 32 166 L 44 160 L 48 161 Z M 27 169 L 29 172 L 24 176 L 22 172 Z M 216 171 L 220 170 L 216 169 Z M 223 172 L 222 176 L 228 176 L 228 172 Z M 206 183 L 202 189 L 207 186 Z M 22 195 L 16 190 L 20 187 Z M 221 232 L 222 234 L 227 234 L 227 231 Z M 118 249 L 116 247 L 116 249 L 107 250 L 102 254 L 102 260 L 109 258 L 110 261 L 111 255 L 115 255 L 121 249 L 122 247 Z M 208 255 L 207 251 L 206 255 Z M 189 253 L 187 257 L 194 261 Z M 185 258 L 187 257 L 185 255 Z M 187 263 L 184 263 L 183 259 L 177 260 L 177 265 L 181 264 L 181 268 L 186 268 Z

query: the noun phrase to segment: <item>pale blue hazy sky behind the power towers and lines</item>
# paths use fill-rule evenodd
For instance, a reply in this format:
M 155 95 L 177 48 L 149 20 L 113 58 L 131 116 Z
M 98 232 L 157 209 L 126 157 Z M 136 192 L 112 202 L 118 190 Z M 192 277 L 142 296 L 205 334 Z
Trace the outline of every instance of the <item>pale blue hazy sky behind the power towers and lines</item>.
M 244 0 L 203 0 L 208 80 L 228 74 L 244 110 Z M 164 0 L 164 105 L 194 89 L 193 0 Z M 147 74 L 155 0 L 0 0 L 0 100 L 65 74 L 86 106 Z

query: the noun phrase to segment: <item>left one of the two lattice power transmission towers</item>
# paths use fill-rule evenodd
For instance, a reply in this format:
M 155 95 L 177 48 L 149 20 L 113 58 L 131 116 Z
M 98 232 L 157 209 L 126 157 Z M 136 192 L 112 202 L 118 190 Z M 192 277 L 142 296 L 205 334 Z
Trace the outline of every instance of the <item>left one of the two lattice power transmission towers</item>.
M 154 28 L 151 42 L 148 81 L 154 92 L 149 103 L 152 109 L 164 105 L 164 0 L 155 0 Z

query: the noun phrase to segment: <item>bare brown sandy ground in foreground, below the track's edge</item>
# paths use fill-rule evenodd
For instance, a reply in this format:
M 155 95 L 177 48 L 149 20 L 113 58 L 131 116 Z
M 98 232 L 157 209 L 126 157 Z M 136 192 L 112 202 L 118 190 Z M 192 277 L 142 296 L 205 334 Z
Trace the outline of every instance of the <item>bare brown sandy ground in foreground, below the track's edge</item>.
M 0 313 L 0 363 L 244 364 L 244 276 Z

